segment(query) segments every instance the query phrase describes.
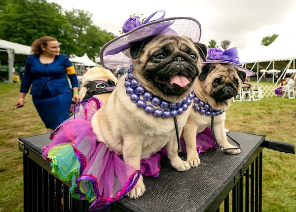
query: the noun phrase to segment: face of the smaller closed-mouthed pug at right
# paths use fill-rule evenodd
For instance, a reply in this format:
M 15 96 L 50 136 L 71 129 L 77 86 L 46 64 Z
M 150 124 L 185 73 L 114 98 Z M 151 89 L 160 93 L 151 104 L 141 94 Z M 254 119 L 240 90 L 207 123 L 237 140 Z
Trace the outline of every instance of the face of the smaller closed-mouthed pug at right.
M 203 66 L 198 76 L 206 94 L 214 98 L 216 104 L 236 96 L 241 88 L 241 81 L 245 78 L 246 73 L 234 66 L 214 63 Z

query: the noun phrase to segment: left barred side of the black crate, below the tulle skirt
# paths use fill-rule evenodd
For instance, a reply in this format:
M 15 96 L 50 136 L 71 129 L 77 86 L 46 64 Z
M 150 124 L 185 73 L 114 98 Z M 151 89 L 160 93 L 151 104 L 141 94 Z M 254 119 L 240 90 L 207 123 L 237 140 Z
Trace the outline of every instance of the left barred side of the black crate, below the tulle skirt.
M 89 203 L 24 154 L 24 212 L 87 212 Z

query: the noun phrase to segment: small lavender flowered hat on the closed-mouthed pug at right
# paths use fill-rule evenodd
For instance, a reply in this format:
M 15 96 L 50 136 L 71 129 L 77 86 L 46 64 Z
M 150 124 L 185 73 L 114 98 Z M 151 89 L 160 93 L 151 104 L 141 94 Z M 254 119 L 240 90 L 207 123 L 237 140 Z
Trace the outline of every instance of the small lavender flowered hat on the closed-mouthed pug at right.
M 246 72 L 246 76 L 253 76 L 255 74 L 253 71 L 239 66 L 245 63 L 239 62 L 236 47 L 226 49 L 225 51 L 222 51 L 220 48 L 209 48 L 207 53 L 208 57 L 206 58 L 206 62 L 202 62 L 202 65 L 206 65 L 208 63 L 229 64 L 235 66 L 235 68 L 240 71 Z

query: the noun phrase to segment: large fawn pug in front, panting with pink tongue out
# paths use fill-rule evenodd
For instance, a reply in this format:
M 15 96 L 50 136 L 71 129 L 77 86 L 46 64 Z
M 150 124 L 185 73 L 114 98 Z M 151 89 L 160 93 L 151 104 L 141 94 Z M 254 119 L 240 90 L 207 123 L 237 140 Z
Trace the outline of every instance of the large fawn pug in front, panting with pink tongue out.
M 193 43 L 188 37 L 179 35 L 156 35 L 130 43 L 129 50 L 133 58 L 133 76 L 139 85 L 169 103 L 178 103 L 190 94 L 201 71 L 201 58 L 205 60 L 206 55 L 204 44 Z M 126 93 L 125 78 L 118 80 L 107 103 L 92 118 L 98 141 L 123 155 L 123 160 L 136 170 L 140 170 L 141 158 L 149 158 L 164 146 L 173 168 L 178 171 L 190 169 L 190 165 L 178 156 L 173 118 L 156 118 L 137 107 Z M 159 105 L 154 107 L 160 108 Z M 189 113 L 188 108 L 177 115 L 180 132 Z M 138 198 L 145 191 L 140 176 L 127 196 Z

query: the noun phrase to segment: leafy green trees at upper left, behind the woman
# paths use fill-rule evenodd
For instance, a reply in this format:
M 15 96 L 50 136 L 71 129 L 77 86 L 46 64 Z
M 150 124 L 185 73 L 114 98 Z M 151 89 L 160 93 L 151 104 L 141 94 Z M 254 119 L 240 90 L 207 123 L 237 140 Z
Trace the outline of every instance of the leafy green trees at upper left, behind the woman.
M 60 42 L 61 53 L 94 58 L 115 35 L 94 26 L 91 18 L 89 12 L 64 11 L 46 0 L 0 0 L 0 39 L 31 45 L 49 35 Z

